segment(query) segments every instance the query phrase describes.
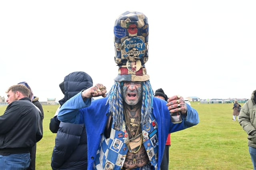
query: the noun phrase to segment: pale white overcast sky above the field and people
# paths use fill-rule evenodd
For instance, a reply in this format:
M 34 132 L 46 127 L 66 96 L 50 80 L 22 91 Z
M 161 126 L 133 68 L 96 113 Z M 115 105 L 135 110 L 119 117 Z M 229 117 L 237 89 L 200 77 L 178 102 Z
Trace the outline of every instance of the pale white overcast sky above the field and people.
M 27 81 L 40 101 L 63 98 L 64 76 L 84 71 L 110 90 L 114 22 L 125 11 L 149 23 L 153 90 L 212 98 L 250 98 L 256 90 L 255 0 L 0 1 L 0 96 Z

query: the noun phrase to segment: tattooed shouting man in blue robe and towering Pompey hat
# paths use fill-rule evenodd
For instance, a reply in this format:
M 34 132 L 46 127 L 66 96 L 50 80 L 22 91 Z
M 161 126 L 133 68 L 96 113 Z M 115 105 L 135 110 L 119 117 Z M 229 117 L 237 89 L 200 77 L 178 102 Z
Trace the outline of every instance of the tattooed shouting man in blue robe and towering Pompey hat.
M 198 112 L 181 96 L 167 103 L 154 97 L 145 68 L 148 19 L 143 13 L 120 15 L 114 36 L 119 69 L 108 95 L 103 84 L 82 90 L 62 105 L 58 119 L 86 125 L 88 170 L 160 170 L 168 134 L 197 125 Z M 91 101 L 97 96 L 103 98 Z M 173 124 L 170 113 L 177 111 L 182 122 Z

